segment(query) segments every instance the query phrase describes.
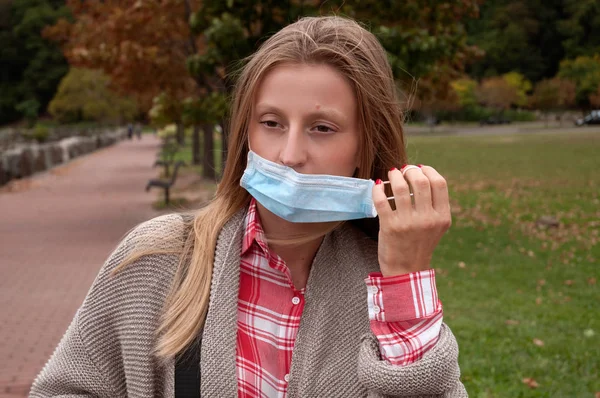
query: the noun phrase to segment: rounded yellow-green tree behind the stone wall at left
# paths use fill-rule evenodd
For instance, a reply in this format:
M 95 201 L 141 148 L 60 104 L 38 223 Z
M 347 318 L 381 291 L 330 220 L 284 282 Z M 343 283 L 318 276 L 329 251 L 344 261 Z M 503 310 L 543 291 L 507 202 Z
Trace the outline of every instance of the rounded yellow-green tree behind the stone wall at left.
M 61 80 L 48 111 L 61 123 L 132 120 L 138 112 L 135 102 L 114 93 L 109 83 L 100 71 L 73 68 Z

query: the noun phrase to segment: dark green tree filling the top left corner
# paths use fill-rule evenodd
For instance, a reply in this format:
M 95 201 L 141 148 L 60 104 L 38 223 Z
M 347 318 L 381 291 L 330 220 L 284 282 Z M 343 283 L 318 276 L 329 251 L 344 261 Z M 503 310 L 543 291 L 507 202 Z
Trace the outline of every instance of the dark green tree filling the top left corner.
M 14 0 L 0 4 L 0 124 L 44 112 L 68 65 L 42 29 L 69 12 L 60 0 Z

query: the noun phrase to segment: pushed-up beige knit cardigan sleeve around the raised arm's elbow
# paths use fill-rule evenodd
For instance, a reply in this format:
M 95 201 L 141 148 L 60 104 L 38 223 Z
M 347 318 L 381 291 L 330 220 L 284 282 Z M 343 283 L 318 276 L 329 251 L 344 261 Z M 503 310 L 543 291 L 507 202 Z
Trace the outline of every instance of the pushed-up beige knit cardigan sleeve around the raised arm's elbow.
M 458 344 L 452 331 L 442 324 L 437 344 L 421 359 L 394 366 L 381 359 L 377 338 L 363 337 L 358 356 L 358 377 L 369 398 L 468 397 L 460 381 Z

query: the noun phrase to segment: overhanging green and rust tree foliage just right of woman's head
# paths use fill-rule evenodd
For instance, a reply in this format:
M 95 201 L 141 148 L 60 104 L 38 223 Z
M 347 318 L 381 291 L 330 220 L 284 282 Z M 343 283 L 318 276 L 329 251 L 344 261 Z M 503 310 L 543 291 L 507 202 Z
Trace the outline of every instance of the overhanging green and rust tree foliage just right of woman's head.
M 414 81 L 418 81 L 417 98 L 423 104 L 436 104 L 439 110 L 454 95 L 451 82 L 463 75 L 468 62 L 483 55 L 466 40 L 466 21 L 479 16 L 476 0 L 343 4 L 341 10 L 345 14 L 369 21 L 387 50 L 399 86 L 410 91 Z

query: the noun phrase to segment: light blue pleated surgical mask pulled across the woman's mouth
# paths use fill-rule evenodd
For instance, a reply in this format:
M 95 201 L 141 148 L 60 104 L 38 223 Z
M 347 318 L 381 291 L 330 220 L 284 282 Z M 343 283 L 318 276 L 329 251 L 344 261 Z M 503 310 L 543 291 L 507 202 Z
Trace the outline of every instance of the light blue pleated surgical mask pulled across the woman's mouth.
M 261 205 L 290 222 L 346 221 L 376 217 L 373 180 L 300 174 L 248 152 L 240 181 Z

